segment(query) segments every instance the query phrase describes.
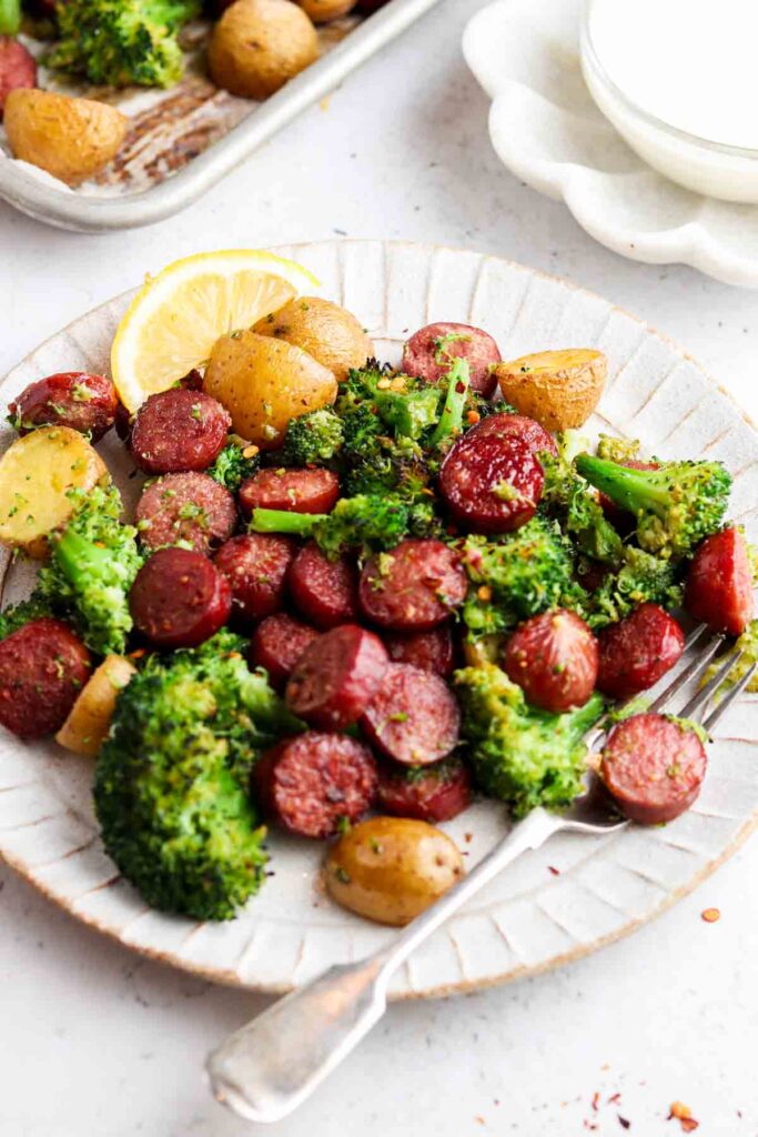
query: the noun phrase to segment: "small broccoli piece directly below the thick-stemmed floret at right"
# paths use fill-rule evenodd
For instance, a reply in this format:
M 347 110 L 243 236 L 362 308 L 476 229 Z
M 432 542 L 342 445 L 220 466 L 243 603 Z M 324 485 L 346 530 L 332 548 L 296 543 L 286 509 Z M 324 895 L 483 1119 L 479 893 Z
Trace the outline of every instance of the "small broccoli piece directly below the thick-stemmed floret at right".
M 589 597 L 585 620 L 598 630 L 624 620 L 645 601 L 666 609 L 678 608 L 683 599 L 678 575 L 670 561 L 627 545 L 622 567 L 609 573 Z

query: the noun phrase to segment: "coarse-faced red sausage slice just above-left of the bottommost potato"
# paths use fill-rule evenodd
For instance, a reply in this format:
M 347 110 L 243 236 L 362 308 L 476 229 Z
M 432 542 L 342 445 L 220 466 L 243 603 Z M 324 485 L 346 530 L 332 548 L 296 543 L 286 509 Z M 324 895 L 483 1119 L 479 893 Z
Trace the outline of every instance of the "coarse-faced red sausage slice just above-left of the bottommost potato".
M 368 810 L 376 763 L 355 738 L 308 730 L 264 754 L 252 780 L 268 818 L 300 837 L 324 838 Z

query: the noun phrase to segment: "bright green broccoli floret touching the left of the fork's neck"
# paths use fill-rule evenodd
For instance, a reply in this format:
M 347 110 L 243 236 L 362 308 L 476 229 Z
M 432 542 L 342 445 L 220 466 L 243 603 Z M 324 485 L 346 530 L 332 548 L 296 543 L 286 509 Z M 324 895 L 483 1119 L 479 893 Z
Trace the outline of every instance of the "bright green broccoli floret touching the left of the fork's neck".
M 494 664 L 466 667 L 455 679 L 463 737 L 486 794 L 520 818 L 539 805 L 569 805 L 582 792 L 583 735 L 603 711 L 597 692 L 577 711 L 556 715 L 530 707 L 520 687 Z

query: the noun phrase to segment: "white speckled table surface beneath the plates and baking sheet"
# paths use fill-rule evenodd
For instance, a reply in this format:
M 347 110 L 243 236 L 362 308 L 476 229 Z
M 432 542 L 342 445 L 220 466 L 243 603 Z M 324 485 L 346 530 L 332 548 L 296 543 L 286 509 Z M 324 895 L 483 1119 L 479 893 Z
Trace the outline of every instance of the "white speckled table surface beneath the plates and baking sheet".
M 0 205 L 0 374 L 144 272 L 199 249 L 440 241 L 603 292 L 686 346 L 758 417 L 758 294 L 623 260 L 507 174 L 463 63 L 482 0 L 443 0 L 209 197 L 159 226 L 56 232 Z M 758 1132 L 758 841 L 655 924 L 533 981 L 393 1007 L 282 1137 Z M 144 962 L 0 865 L 2 1137 L 240 1137 L 206 1051 L 266 1001 Z M 700 913 L 720 908 L 718 923 Z M 597 1107 L 593 1107 L 593 1096 Z M 615 1098 L 614 1095 L 620 1095 Z M 614 1101 L 608 1099 L 614 1097 Z

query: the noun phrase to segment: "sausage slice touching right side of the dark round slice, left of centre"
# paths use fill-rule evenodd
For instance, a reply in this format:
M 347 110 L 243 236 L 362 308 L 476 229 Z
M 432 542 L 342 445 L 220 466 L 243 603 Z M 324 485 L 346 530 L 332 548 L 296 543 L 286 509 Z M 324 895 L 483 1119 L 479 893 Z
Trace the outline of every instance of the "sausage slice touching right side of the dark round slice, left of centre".
M 234 613 L 245 623 L 270 616 L 282 607 L 294 549 L 289 537 L 272 533 L 245 533 L 222 545 L 216 567 L 232 586 Z

